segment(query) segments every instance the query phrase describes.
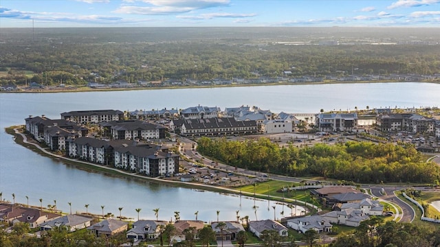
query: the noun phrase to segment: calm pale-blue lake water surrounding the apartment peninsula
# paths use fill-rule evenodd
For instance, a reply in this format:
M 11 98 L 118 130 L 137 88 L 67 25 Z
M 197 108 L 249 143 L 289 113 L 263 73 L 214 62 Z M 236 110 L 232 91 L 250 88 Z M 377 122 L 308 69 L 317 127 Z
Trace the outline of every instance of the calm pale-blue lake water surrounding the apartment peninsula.
M 109 91 L 85 93 L 2 93 L 0 94 L 0 126 L 24 124 L 28 115 L 46 115 L 59 119 L 60 113 L 70 110 L 140 110 L 187 108 L 189 106 L 236 107 L 259 106 L 274 113 L 318 113 L 321 108 L 354 109 L 382 107 L 439 106 L 440 84 L 428 83 L 375 83 L 375 84 L 321 84 L 289 86 L 253 86 L 210 89 L 160 89 L 146 91 Z M 159 218 L 170 220 L 175 211 L 181 219 L 235 220 L 235 211 L 254 220 L 254 200 L 214 192 L 140 182 L 133 179 L 113 178 L 88 173 L 51 158 L 39 156 L 17 145 L 5 132 L 0 133 L 0 191 L 3 198 L 43 206 L 56 204 L 58 209 L 118 215 L 137 218 L 155 218 L 153 209 L 159 208 Z M 259 219 L 274 217 L 267 200 L 256 201 Z M 270 211 L 267 210 L 270 205 Z M 277 205 L 276 215 L 281 217 L 282 207 Z M 285 209 L 285 215 L 290 209 Z

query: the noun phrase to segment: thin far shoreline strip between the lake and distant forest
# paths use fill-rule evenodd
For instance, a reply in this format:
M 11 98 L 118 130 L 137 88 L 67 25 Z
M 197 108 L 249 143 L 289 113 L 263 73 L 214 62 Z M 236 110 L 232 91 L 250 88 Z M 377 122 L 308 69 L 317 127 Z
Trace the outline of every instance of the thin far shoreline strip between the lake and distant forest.
M 92 89 L 89 87 L 80 88 L 54 88 L 54 89 L 21 89 L 17 91 L 0 91 L 0 93 L 83 93 L 83 92 L 106 92 L 106 91 L 141 91 L 141 90 L 160 90 L 160 89 L 209 89 L 209 88 L 226 88 L 238 86 L 288 86 L 288 85 L 321 85 L 321 84 L 366 84 L 366 83 L 432 83 L 440 84 L 440 81 L 325 81 L 325 82 L 278 82 L 278 83 L 262 83 L 262 84 L 231 84 L 231 85 L 211 85 L 211 86 L 162 86 L 162 87 L 135 87 L 135 88 L 109 88 L 109 89 Z

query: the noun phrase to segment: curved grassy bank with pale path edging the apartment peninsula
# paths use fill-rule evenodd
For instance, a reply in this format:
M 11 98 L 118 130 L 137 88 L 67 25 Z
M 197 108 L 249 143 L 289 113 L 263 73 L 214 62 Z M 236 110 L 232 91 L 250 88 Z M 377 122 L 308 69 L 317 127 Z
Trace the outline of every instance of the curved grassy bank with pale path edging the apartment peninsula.
M 26 135 L 23 134 L 23 132 L 19 132 L 19 129 L 22 129 L 22 128 L 23 128 L 22 126 L 10 126 L 8 128 L 5 128 L 5 130 L 8 134 L 11 134 L 14 137 L 14 141 L 17 144 L 22 145 L 24 148 L 28 148 L 28 149 L 32 150 L 33 152 L 36 152 L 36 153 L 41 154 L 43 156 L 48 156 L 49 158 L 52 158 L 54 160 L 62 161 L 65 165 L 75 165 L 75 167 L 77 169 L 84 169 L 86 172 L 102 172 L 105 176 L 119 176 L 121 178 L 134 178 L 137 180 L 144 180 L 144 181 L 147 180 L 148 182 L 151 182 L 151 183 L 160 183 L 163 185 L 170 185 L 173 187 L 183 187 L 186 189 L 203 189 L 206 191 L 212 191 L 212 192 L 218 192 L 218 193 L 230 193 L 230 194 L 235 194 L 235 195 L 250 196 L 252 198 L 254 197 L 254 193 L 240 191 L 237 189 L 230 189 L 230 188 L 226 188 L 226 187 L 219 187 L 219 186 L 206 185 L 206 184 L 187 183 L 187 182 L 181 182 L 181 181 L 176 181 L 176 180 L 164 180 L 162 178 L 152 178 L 152 177 L 143 176 L 140 174 L 133 174 L 131 172 L 124 172 L 120 169 L 116 169 L 113 167 L 107 167 L 107 166 L 98 165 L 98 164 L 94 164 L 94 163 L 87 163 L 85 161 L 78 161 L 73 158 L 67 158 L 65 156 L 49 152 L 49 151 L 45 150 L 45 148 L 41 148 L 40 145 L 28 141 L 28 137 L 26 137 Z M 13 132 L 10 132 L 8 130 L 13 131 Z M 21 140 L 17 140 L 17 138 L 21 138 Z M 28 145 L 32 145 L 32 146 L 30 147 Z M 265 198 L 267 198 L 267 195 L 256 193 L 255 198 L 265 199 Z M 306 202 L 303 202 L 300 200 L 283 198 L 281 196 L 271 196 L 271 198 L 273 201 L 276 201 L 276 202 L 291 203 L 291 204 L 293 204 L 295 202 L 295 204 L 303 206 L 303 207 L 309 207 L 309 208 L 313 207 L 314 210 L 317 209 L 317 207 L 315 205 L 310 204 L 310 203 L 306 203 Z M 307 206 L 306 206 L 306 204 L 307 204 Z

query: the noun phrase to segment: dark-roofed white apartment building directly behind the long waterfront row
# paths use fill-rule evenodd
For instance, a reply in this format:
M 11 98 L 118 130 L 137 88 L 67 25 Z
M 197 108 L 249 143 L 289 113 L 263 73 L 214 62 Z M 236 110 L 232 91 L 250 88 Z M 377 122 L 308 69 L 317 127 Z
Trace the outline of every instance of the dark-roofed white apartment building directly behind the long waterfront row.
M 111 139 L 164 139 L 165 128 L 141 120 L 109 121 L 101 123 L 104 137 Z

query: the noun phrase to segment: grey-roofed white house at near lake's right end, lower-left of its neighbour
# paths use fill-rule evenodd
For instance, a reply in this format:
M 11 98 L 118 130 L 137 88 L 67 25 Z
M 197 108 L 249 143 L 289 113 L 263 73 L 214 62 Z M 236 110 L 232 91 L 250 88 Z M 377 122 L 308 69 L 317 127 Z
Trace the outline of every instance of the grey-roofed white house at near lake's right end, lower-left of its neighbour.
M 315 230 L 318 233 L 331 233 L 331 228 L 333 227 L 329 220 L 321 215 L 309 215 L 290 219 L 287 220 L 287 226 L 300 233 L 305 233 L 308 230 Z

